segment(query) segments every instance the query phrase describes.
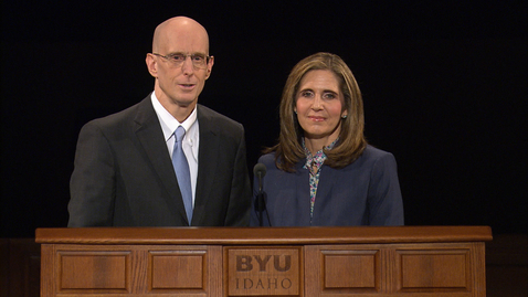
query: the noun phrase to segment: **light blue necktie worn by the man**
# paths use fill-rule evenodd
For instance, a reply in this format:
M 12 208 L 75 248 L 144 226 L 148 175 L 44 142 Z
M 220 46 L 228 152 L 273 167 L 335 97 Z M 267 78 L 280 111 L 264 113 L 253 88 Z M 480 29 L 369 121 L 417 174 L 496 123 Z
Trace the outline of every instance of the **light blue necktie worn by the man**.
M 189 163 L 183 153 L 182 140 L 186 135 L 186 129 L 181 126 L 175 131 L 175 150 L 172 151 L 172 166 L 175 167 L 176 179 L 180 185 L 181 197 L 186 205 L 187 219 L 189 225 L 192 220 L 192 190 L 191 190 L 191 173 L 189 171 Z

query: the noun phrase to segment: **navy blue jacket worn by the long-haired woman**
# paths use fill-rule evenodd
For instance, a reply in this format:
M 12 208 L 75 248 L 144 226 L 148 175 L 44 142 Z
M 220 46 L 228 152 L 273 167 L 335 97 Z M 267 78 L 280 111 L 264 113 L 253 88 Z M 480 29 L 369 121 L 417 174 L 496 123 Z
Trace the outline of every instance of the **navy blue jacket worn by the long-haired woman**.
M 274 153 L 262 156 L 258 162 L 267 168 L 263 179 L 264 225 L 310 225 L 309 172 L 303 169 L 306 159 L 295 166 L 295 173 L 277 169 Z M 258 225 L 256 204 L 252 209 L 251 225 Z M 359 159 L 342 169 L 321 167 L 311 225 L 402 224 L 403 203 L 391 153 L 368 146 Z

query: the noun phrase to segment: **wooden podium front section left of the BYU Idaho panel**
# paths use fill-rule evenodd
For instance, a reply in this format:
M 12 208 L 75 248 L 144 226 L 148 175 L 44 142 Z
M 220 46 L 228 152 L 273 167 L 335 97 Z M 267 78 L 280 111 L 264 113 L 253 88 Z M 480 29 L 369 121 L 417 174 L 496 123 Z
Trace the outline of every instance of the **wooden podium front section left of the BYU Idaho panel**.
M 221 246 L 44 244 L 42 255 L 41 296 L 222 296 Z

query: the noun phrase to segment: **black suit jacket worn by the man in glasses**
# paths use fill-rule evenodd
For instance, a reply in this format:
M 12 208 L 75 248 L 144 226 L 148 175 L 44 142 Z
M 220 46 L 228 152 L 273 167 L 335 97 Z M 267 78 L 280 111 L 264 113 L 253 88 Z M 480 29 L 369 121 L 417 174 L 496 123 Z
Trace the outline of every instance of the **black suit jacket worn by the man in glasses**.
M 244 129 L 198 105 L 200 148 L 191 225 L 249 224 Z M 150 96 L 80 132 L 68 226 L 188 226 L 177 177 Z

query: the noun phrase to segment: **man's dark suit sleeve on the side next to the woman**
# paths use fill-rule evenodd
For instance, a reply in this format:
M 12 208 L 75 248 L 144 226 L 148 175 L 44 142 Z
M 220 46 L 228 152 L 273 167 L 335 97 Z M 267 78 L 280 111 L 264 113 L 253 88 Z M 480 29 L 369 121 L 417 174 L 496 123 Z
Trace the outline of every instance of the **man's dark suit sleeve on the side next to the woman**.
M 247 172 L 244 128 L 240 137 L 233 166 L 233 180 L 225 226 L 247 226 L 250 224 L 251 183 Z

